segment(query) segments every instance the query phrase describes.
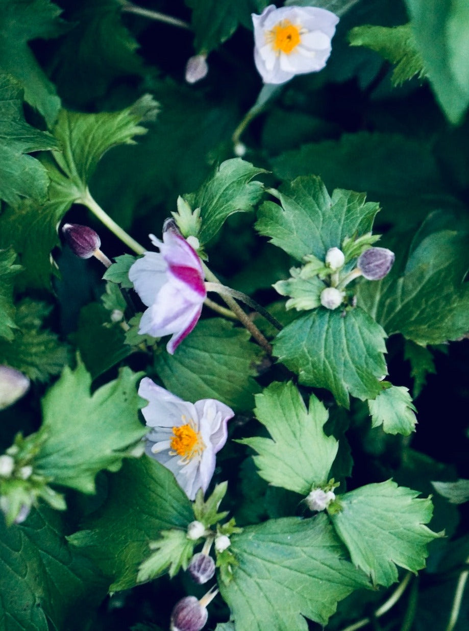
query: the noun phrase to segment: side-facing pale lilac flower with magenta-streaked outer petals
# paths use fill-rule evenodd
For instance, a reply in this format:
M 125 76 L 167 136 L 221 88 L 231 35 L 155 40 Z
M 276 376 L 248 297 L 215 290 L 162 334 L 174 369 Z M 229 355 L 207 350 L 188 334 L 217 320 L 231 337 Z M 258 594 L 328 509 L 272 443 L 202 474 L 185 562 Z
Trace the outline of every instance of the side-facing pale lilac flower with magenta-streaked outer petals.
M 177 232 L 166 230 L 162 242 L 149 237 L 159 252 L 145 252 L 129 269 L 129 279 L 148 307 L 139 333 L 154 338 L 172 334 L 166 349 L 173 355 L 202 312 L 207 297 L 204 270 L 197 252 Z

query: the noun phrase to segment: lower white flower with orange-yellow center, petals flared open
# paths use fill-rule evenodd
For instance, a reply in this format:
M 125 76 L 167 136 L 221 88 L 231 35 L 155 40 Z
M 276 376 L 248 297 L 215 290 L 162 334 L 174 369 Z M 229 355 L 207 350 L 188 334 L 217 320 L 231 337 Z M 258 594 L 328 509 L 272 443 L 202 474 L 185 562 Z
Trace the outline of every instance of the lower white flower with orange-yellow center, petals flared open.
M 175 475 L 190 500 L 202 488 L 205 493 L 215 470 L 215 456 L 226 443 L 226 423 L 234 412 L 216 399 L 188 403 L 141 380 L 139 395 L 148 401 L 142 409 L 147 434 L 146 452 Z

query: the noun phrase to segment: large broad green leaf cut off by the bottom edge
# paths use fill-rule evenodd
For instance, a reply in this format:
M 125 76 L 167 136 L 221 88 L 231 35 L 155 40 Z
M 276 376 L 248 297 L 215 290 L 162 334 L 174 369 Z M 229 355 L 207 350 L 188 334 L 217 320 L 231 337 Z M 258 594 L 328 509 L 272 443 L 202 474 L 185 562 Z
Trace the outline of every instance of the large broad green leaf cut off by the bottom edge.
M 230 550 L 238 565 L 219 587 L 239 629 L 306 631 L 303 616 L 325 625 L 337 601 L 367 584 L 325 515 L 248 526 Z

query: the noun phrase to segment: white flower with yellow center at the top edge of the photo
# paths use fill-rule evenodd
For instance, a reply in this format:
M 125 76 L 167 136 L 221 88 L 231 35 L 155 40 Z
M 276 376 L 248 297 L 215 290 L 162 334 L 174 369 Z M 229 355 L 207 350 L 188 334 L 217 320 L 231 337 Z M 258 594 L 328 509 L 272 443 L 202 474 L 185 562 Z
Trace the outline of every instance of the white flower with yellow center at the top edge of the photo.
M 252 14 L 254 61 L 264 83 L 285 83 L 295 74 L 313 73 L 326 65 L 339 18 L 317 7 L 270 4 Z

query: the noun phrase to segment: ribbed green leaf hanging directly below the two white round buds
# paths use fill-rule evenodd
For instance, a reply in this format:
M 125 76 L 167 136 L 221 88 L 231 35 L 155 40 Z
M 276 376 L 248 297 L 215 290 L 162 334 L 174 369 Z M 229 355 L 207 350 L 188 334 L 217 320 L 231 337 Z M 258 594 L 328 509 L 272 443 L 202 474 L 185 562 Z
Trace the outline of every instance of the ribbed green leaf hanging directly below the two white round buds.
M 306 386 L 328 388 L 349 407 L 349 393 L 376 398 L 386 375 L 386 333 L 364 310 L 320 307 L 288 324 L 274 341 L 274 355 Z

